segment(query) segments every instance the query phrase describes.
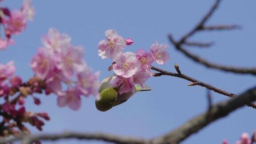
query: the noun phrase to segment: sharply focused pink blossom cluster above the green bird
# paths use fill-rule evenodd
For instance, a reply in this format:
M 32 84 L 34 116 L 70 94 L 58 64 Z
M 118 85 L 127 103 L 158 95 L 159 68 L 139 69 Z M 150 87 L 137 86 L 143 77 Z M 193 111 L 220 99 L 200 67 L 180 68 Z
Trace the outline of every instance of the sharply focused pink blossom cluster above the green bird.
M 139 49 L 136 54 L 132 52 L 122 52 L 126 45 L 133 43 L 131 38 L 124 39 L 119 36 L 116 30 L 109 29 L 105 32 L 106 40 L 100 40 L 98 44 L 98 55 L 102 59 L 113 60 L 112 68 L 117 75 L 112 79 L 112 87 L 120 87 L 119 93 L 135 92 L 135 84 L 142 88 L 151 74 L 152 63 L 165 64 L 170 55 L 166 52 L 166 44 L 152 44 L 150 51 Z

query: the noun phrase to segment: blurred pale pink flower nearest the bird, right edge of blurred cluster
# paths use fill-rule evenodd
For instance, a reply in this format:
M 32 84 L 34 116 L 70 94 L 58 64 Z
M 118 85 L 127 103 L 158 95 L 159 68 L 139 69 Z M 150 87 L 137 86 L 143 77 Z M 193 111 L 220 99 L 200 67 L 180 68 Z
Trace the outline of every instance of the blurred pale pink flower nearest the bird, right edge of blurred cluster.
M 84 95 L 94 95 L 97 100 L 100 99 L 99 89 L 100 72 L 93 73 L 91 68 L 86 68 L 84 71 L 77 73 L 77 89 Z

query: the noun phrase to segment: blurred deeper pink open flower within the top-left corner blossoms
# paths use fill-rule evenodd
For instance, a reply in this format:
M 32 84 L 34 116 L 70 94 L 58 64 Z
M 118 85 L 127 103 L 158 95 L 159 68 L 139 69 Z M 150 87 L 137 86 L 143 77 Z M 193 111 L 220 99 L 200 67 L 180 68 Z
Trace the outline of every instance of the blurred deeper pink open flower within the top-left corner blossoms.
M 26 17 L 20 11 L 12 11 L 11 17 L 7 21 L 8 30 L 13 34 L 20 34 L 27 25 Z

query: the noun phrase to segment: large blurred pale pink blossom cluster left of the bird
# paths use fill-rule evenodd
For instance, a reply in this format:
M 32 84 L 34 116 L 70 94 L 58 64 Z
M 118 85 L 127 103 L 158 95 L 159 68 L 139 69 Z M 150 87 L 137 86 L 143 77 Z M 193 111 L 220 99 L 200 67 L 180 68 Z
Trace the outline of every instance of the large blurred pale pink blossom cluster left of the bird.
M 50 28 L 47 36 L 42 37 L 44 47 L 39 48 L 31 60 L 36 76 L 45 81 L 46 91 L 58 96 L 60 107 L 68 106 L 73 110 L 80 108 L 80 96 L 93 95 L 99 99 L 99 72 L 88 68 L 80 46 L 73 46 L 71 38 L 56 29 Z M 74 76 L 76 81 L 74 81 Z M 67 89 L 63 90 L 62 85 Z

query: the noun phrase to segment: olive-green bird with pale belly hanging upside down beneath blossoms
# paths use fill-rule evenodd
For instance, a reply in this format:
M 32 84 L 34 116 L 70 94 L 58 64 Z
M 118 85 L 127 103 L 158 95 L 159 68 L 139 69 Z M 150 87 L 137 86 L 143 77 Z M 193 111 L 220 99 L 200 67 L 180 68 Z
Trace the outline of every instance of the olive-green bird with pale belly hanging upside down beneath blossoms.
M 115 77 L 116 75 L 108 76 L 100 83 L 100 100 L 95 100 L 95 105 L 101 112 L 108 111 L 112 107 L 126 102 L 134 94 L 132 92 L 127 92 L 120 95 L 118 93 L 118 88 L 112 88 L 110 86 L 110 81 Z M 143 88 L 140 85 L 135 85 L 135 93 L 150 90 L 151 88 L 147 85 L 144 85 Z

